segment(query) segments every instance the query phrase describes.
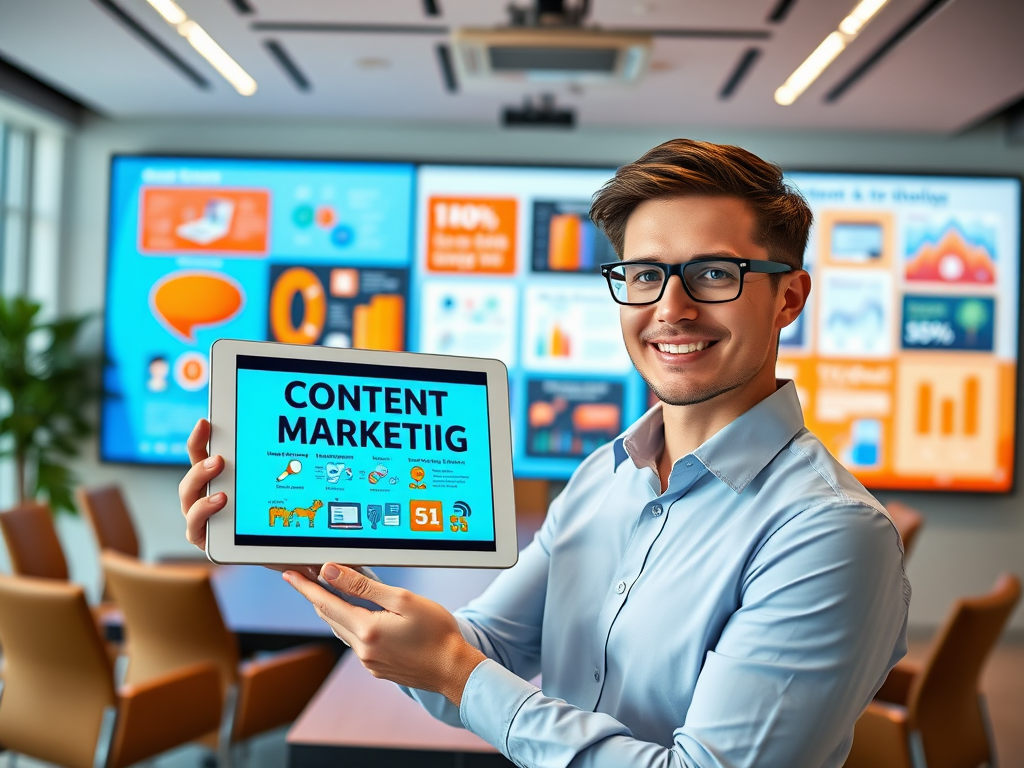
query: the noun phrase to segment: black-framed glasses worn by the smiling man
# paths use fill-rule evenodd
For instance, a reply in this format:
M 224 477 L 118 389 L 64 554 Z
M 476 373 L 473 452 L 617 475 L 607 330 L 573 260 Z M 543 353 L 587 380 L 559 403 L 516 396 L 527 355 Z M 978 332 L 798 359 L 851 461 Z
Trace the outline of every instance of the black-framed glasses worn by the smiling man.
M 702 304 L 735 301 L 743 290 L 748 272 L 779 274 L 792 272 L 788 264 L 764 259 L 715 257 L 693 259 L 682 264 L 659 261 L 612 261 L 601 264 L 601 274 L 608 281 L 611 298 L 620 304 L 653 304 L 665 294 L 669 278 L 678 274 L 686 295 Z

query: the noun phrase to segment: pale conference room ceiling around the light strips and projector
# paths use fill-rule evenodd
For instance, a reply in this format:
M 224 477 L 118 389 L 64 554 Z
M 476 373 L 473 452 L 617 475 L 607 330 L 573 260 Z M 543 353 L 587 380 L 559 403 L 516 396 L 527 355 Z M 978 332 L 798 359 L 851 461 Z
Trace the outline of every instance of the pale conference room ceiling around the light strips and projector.
M 1024 95 L 1019 0 L 890 0 L 791 106 L 775 89 L 855 0 L 593 0 L 588 26 L 654 33 L 640 82 L 500 92 L 453 90 L 438 47 L 456 28 L 507 24 L 508 0 L 177 1 L 256 79 L 254 95 L 238 94 L 145 0 L 0 0 L 0 56 L 113 118 L 494 125 L 503 108 L 552 93 L 585 126 L 949 134 Z

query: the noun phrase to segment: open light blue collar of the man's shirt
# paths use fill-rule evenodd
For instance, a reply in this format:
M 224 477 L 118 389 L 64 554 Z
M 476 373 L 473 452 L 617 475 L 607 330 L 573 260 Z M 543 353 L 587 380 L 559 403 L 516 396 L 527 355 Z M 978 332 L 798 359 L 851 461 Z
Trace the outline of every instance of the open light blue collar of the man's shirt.
M 772 394 L 712 435 L 693 456 L 740 494 L 803 427 L 797 387 L 780 379 Z M 650 467 L 656 472 L 664 445 L 665 417 L 658 402 L 615 439 L 615 467 L 629 457 L 637 468 Z

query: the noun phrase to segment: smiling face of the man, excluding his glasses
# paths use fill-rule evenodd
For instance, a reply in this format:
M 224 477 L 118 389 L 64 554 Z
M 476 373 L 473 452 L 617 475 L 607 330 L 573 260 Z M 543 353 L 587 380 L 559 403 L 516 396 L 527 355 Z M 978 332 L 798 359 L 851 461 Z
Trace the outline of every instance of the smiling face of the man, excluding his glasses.
M 768 259 L 753 241 L 754 227 L 753 212 L 738 198 L 650 200 L 626 224 L 623 258 L 668 264 L 703 256 Z M 806 298 L 805 290 L 799 307 L 792 306 L 792 275 L 782 275 L 773 292 L 769 275 L 748 273 L 739 298 L 724 304 L 695 302 L 677 276 L 670 278 L 656 304 L 620 307 L 633 365 L 673 406 L 703 402 L 755 381 L 773 384 L 778 331 Z M 699 349 L 685 351 L 694 345 Z

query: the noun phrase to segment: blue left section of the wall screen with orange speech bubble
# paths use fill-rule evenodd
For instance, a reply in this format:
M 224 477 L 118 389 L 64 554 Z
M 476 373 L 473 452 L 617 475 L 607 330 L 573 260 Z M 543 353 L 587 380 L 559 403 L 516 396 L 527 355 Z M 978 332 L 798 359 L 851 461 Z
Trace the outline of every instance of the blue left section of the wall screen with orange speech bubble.
M 414 167 L 118 157 L 101 456 L 182 463 L 219 338 L 407 347 Z

